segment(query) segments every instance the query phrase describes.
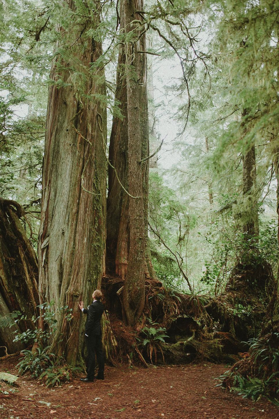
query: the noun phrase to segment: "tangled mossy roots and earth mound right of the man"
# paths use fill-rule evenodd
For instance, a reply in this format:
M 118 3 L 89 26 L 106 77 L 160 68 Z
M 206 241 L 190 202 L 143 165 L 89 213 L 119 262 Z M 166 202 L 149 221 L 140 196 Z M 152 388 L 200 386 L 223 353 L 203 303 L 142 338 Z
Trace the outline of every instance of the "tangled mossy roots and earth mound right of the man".
M 230 290 L 222 299 L 208 295 L 183 295 L 166 290 L 158 280 L 146 278 L 146 303 L 135 329 L 122 323 L 121 289 L 119 278 L 104 277 L 102 289 L 105 305 L 110 313 L 111 327 L 119 342 L 117 359 L 136 357 L 135 345 L 143 340 L 144 326 L 165 328 L 166 344 L 154 347 L 158 361 L 187 362 L 196 357 L 210 361 L 235 362 L 246 351 L 243 341 L 259 334 L 266 311 L 265 301 L 247 292 Z M 113 319 L 113 320 L 112 320 Z M 155 343 L 153 343 L 155 345 Z M 148 345 L 146 345 L 148 346 Z M 150 362 L 148 351 L 140 344 L 138 349 Z M 149 351 L 150 355 L 150 351 Z M 156 355 L 157 356 L 157 355 Z

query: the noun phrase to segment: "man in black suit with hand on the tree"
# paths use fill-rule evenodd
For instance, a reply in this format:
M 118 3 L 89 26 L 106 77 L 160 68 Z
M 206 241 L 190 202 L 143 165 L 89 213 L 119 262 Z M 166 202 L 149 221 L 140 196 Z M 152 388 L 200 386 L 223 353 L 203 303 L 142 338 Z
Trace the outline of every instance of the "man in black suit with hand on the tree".
M 104 355 L 102 352 L 102 330 L 101 317 L 104 312 L 104 306 L 100 302 L 102 292 L 95 290 L 92 294 L 93 303 L 88 309 L 83 308 L 83 301 L 79 303 L 80 310 L 87 314 L 87 322 L 85 325 L 85 342 L 87 347 L 87 377 L 81 378 L 82 381 L 94 381 L 104 379 Z M 98 374 L 94 377 L 95 372 L 95 354 L 99 365 Z

